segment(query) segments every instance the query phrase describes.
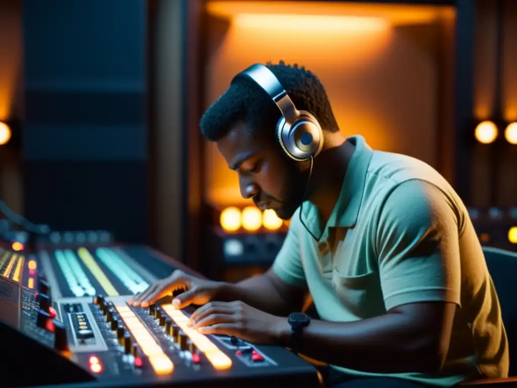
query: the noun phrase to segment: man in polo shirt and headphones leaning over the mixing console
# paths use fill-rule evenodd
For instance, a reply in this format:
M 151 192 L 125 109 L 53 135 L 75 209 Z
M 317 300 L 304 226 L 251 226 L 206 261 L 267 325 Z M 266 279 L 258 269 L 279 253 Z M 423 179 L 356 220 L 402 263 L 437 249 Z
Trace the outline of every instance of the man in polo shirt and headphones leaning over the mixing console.
M 145 307 L 185 287 L 173 304 L 202 305 L 191 317 L 201 333 L 290 347 L 330 364 L 334 386 L 371 379 L 383 387 L 450 386 L 507 376 L 497 295 L 451 186 L 419 160 L 372 151 L 360 136 L 345 139 L 310 71 L 282 62 L 267 68 L 296 109 L 309 112 L 307 121 L 317 121 L 304 129 L 306 140 L 283 137 L 289 120 L 279 122 L 281 109 L 290 108 L 260 66 L 258 78 L 253 70 L 234 79 L 201 129 L 239 174 L 243 197 L 292 217 L 275 263 L 236 284 L 174 272 L 132 303 Z M 308 151 L 295 161 L 296 144 Z M 287 319 L 307 291 L 320 319 Z

